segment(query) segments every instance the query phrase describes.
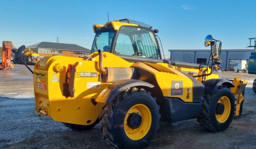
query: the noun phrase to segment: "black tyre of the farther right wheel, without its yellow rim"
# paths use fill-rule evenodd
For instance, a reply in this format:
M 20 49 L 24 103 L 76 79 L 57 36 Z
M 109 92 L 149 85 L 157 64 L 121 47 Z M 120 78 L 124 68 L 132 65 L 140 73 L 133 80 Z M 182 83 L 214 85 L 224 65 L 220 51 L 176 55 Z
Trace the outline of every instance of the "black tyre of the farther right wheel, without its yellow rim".
M 216 107 L 218 100 L 226 96 L 229 98 L 231 108 L 230 108 L 230 114 L 225 122 L 218 122 L 216 118 Z M 202 104 L 201 108 L 201 114 L 200 117 L 197 119 L 201 127 L 204 127 L 206 129 L 212 130 L 212 131 L 224 131 L 227 129 L 230 125 L 230 123 L 233 120 L 234 116 L 234 110 L 235 110 L 235 101 L 233 93 L 230 89 L 227 87 L 221 87 L 218 89 L 218 91 L 215 94 L 212 93 L 206 93 L 204 96 L 204 102 Z

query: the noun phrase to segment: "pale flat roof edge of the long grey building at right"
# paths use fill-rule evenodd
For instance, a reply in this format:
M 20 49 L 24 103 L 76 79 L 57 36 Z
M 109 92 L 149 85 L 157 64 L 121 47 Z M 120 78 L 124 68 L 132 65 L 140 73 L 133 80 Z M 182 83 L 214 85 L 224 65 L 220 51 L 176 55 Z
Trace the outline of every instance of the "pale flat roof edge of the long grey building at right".
M 171 49 L 169 52 L 209 52 L 211 49 Z M 238 49 L 221 49 L 221 51 L 251 51 L 254 52 L 252 48 L 238 48 Z

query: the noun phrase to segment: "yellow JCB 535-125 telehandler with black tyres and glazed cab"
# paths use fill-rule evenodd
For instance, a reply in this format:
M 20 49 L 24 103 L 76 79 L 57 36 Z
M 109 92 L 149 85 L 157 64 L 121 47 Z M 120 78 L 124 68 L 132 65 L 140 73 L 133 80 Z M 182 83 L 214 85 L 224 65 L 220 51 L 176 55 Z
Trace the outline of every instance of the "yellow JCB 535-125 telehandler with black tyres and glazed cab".
M 116 148 L 145 148 L 159 120 L 197 118 L 200 126 L 223 131 L 242 112 L 247 81 L 219 79 L 221 42 L 208 35 L 211 67 L 162 59 L 157 29 L 123 19 L 93 25 L 91 54 L 83 58 L 47 56 L 34 67 L 38 115 L 74 130 L 100 121 L 103 137 Z M 219 45 L 218 45 L 219 43 Z M 19 58 L 22 48 L 16 50 Z

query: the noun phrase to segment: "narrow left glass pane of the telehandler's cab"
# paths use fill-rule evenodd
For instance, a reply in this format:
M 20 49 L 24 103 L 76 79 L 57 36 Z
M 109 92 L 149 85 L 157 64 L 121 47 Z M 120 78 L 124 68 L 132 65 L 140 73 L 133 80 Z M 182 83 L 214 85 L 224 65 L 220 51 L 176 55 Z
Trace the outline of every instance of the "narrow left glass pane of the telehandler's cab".
M 92 44 L 91 53 L 97 52 L 98 50 L 110 52 L 111 43 L 114 38 L 115 32 L 97 32 Z

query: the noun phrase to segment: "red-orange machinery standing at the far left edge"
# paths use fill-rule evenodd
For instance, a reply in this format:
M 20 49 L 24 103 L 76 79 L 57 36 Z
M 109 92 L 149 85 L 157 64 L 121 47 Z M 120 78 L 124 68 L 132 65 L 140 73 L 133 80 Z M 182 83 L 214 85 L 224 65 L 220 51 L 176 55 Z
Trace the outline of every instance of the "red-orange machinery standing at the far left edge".
M 0 64 L 0 69 L 13 68 L 13 64 L 11 63 L 12 48 L 13 48 L 13 43 L 11 41 L 3 41 L 2 64 Z

